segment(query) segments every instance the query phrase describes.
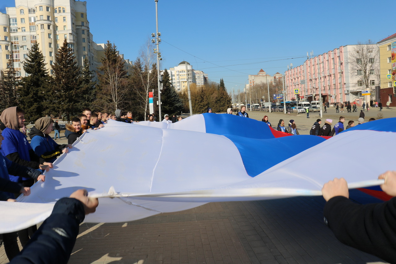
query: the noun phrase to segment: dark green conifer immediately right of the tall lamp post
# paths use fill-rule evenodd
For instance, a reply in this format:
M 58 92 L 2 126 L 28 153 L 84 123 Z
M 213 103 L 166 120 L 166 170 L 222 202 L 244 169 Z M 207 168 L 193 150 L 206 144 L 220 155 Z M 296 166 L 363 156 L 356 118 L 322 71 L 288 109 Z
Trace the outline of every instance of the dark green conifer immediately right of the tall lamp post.
M 169 72 L 167 69 L 164 70 L 162 80 L 161 112 L 169 116 L 179 115 L 183 110 L 183 101 L 169 81 Z

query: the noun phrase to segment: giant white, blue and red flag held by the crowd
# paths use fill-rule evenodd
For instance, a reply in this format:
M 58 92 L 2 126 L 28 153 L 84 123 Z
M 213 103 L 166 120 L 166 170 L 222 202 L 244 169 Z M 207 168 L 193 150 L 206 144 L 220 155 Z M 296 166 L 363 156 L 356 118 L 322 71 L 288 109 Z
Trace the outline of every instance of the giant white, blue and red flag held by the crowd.
M 30 196 L 0 203 L 0 233 L 43 221 L 59 198 L 81 188 L 100 197 L 87 222 L 126 222 L 211 201 L 321 195 L 334 177 L 343 176 L 350 187 L 375 185 L 379 174 L 394 169 L 395 124 L 373 121 L 325 140 L 284 136 L 264 122 L 227 114 L 175 124 L 109 121 L 61 155 Z M 386 148 L 365 162 L 365 142 Z

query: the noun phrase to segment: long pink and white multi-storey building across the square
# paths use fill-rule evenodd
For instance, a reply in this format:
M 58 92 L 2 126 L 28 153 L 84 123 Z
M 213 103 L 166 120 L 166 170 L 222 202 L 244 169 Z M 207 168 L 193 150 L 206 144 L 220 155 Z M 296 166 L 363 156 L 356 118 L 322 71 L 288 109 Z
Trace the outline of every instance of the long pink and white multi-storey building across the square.
M 319 88 L 323 102 L 362 101 L 364 89 L 358 72 L 352 69 L 350 58 L 358 45 L 346 45 L 307 59 L 303 65 L 285 72 L 286 100 L 319 101 Z M 349 55 L 349 57 L 348 57 Z M 371 80 L 372 79 L 372 80 Z M 378 85 L 377 75 L 370 75 L 370 85 Z

